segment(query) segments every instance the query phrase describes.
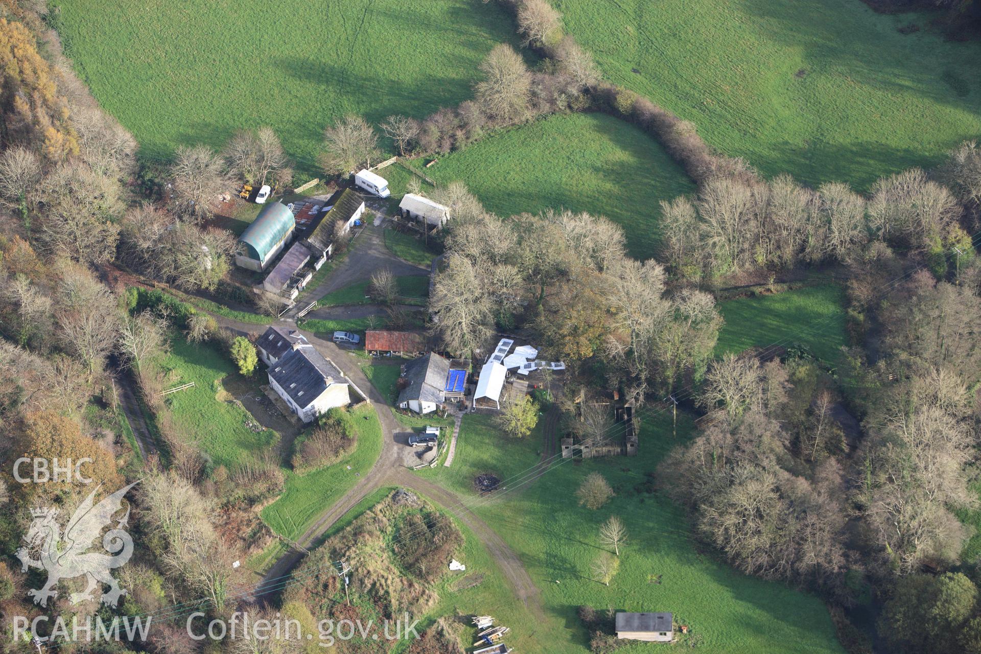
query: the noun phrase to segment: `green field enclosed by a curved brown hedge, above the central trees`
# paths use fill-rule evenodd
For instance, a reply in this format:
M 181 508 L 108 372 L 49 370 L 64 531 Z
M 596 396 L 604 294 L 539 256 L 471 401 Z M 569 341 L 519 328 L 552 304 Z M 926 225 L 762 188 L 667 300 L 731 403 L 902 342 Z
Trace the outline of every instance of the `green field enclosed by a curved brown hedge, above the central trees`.
M 553 207 L 623 226 L 635 257 L 654 254 L 657 201 L 695 190 L 664 149 L 604 114 L 551 116 L 494 134 L 439 160 L 426 175 L 455 179 L 501 216 Z

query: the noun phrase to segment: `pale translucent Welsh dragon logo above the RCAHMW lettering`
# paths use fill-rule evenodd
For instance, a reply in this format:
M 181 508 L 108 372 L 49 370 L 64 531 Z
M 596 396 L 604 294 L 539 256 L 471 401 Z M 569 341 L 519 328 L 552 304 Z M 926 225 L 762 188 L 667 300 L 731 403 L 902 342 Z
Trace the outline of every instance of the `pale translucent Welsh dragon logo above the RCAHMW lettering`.
M 95 546 L 94 541 L 102 529 L 113 522 L 113 516 L 123 508 L 123 496 L 136 483 L 138 482 L 134 481 L 129 486 L 120 488 L 93 506 L 95 493 L 101 487 L 99 484 L 76 509 L 65 528 L 64 540 L 61 528 L 55 521 L 57 509 L 30 510 L 33 521 L 24 536 L 25 546 L 17 551 L 17 558 L 21 560 L 24 572 L 30 567 L 48 573 L 48 580 L 40 589 L 27 591 L 27 595 L 34 598 L 35 604 L 46 607 L 49 597 L 58 596 L 55 586 L 59 580 L 75 579 L 82 575 L 87 579 L 88 585 L 82 592 L 69 596 L 73 604 L 92 599 L 92 591 L 100 582 L 109 586 L 109 591 L 102 594 L 103 604 L 116 607 L 120 597 L 127 594 L 109 571 L 126 565 L 132 556 L 132 538 L 124 529 L 129 522 L 129 508 L 116 527 L 102 536 L 102 547 L 114 556 L 87 550 Z M 37 558 L 33 558 L 34 556 Z

